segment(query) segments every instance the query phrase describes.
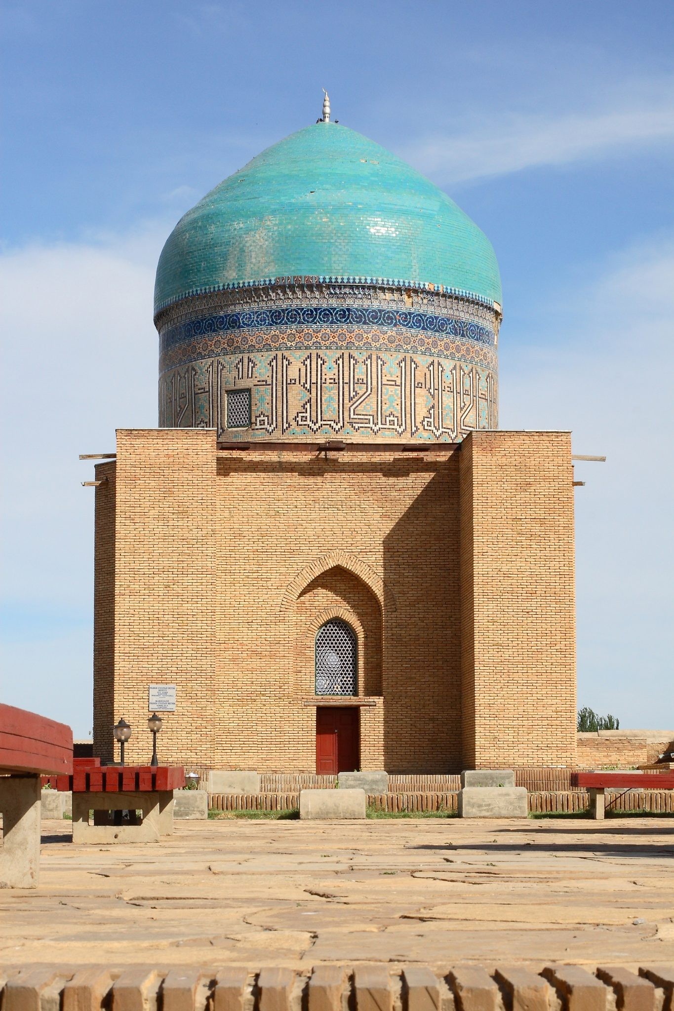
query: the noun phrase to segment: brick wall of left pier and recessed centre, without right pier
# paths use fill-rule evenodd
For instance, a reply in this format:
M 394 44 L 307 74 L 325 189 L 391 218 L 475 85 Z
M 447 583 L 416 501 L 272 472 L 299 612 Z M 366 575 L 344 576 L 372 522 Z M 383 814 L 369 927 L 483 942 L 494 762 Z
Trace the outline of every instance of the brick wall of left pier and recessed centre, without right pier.
M 362 766 L 460 765 L 456 457 L 216 452 L 212 431 L 120 431 L 115 714 L 134 727 L 128 760 L 149 753 L 148 685 L 176 683 L 165 760 L 313 771 L 313 639 L 339 613 L 361 640 L 359 694 L 378 703 L 361 711 Z M 108 734 L 99 721 L 97 749 Z

